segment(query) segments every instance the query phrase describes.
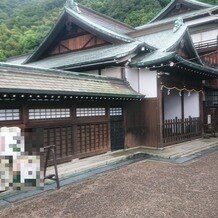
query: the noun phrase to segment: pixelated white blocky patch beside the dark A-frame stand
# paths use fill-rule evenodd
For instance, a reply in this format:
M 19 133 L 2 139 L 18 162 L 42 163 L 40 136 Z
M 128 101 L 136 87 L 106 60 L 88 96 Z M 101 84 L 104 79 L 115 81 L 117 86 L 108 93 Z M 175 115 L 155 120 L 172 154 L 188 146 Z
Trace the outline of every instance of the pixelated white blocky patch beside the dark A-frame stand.
M 0 128 L 0 191 L 42 188 L 40 156 L 25 153 L 18 127 Z

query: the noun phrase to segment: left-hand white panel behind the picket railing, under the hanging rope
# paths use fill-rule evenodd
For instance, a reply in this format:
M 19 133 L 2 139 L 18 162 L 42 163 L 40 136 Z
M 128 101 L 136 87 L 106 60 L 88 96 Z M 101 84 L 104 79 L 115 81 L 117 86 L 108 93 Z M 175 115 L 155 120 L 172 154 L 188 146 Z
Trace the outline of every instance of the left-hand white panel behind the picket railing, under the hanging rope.
M 170 95 L 167 95 L 167 90 L 164 89 L 164 119 L 182 118 L 182 102 L 179 92 L 171 90 Z

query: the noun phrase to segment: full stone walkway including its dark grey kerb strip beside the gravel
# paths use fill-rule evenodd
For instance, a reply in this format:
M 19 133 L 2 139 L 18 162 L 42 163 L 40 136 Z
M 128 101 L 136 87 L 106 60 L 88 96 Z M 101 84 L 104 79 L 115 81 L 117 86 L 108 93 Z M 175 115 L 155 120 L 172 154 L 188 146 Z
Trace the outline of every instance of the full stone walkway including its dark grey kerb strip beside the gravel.
M 103 155 L 76 159 L 58 165 L 61 187 L 81 182 L 103 172 L 119 169 L 141 160 L 161 160 L 162 162 L 183 163 L 201 155 L 203 151 L 218 150 L 218 138 L 196 139 L 185 143 L 176 144 L 164 149 L 151 149 L 137 147 Z M 46 175 L 52 174 L 54 167 L 49 167 Z M 46 180 L 44 190 L 5 192 L 0 195 L 0 208 L 7 207 L 15 202 L 50 192 L 56 189 L 55 182 Z

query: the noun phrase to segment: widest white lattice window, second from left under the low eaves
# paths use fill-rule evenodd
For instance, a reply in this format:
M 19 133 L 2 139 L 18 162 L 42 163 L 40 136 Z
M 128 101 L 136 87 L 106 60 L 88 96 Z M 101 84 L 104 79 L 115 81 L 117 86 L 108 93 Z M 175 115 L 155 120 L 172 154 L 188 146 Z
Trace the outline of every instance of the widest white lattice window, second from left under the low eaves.
M 29 109 L 29 119 L 55 119 L 70 117 L 70 108 Z

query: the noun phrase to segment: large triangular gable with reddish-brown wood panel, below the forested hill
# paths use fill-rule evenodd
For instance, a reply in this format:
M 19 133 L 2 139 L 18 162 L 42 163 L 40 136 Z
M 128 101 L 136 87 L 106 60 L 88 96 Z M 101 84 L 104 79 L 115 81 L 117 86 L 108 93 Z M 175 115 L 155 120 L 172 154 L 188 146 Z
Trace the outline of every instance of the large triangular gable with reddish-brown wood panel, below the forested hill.
M 96 19 L 100 22 L 100 15 L 96 18 L 96 15 L 92 13 L 91 16 L 91 12 L 87 13 L 84 8 L 80 11 L 65 7 L 50 33 L 23 64 L 35 62 L 51 55 L 134 41 L 123 33 L 124 29 L 131 28 L 119 23 L 117 28 L 122 27 L 122 31 L 119 32 L 116 29 L 112 30 L 109 25 L 115 21 L 106 22 L 105 20 L 109 19 L 104 18 L 104 25 L 100 25 Z

